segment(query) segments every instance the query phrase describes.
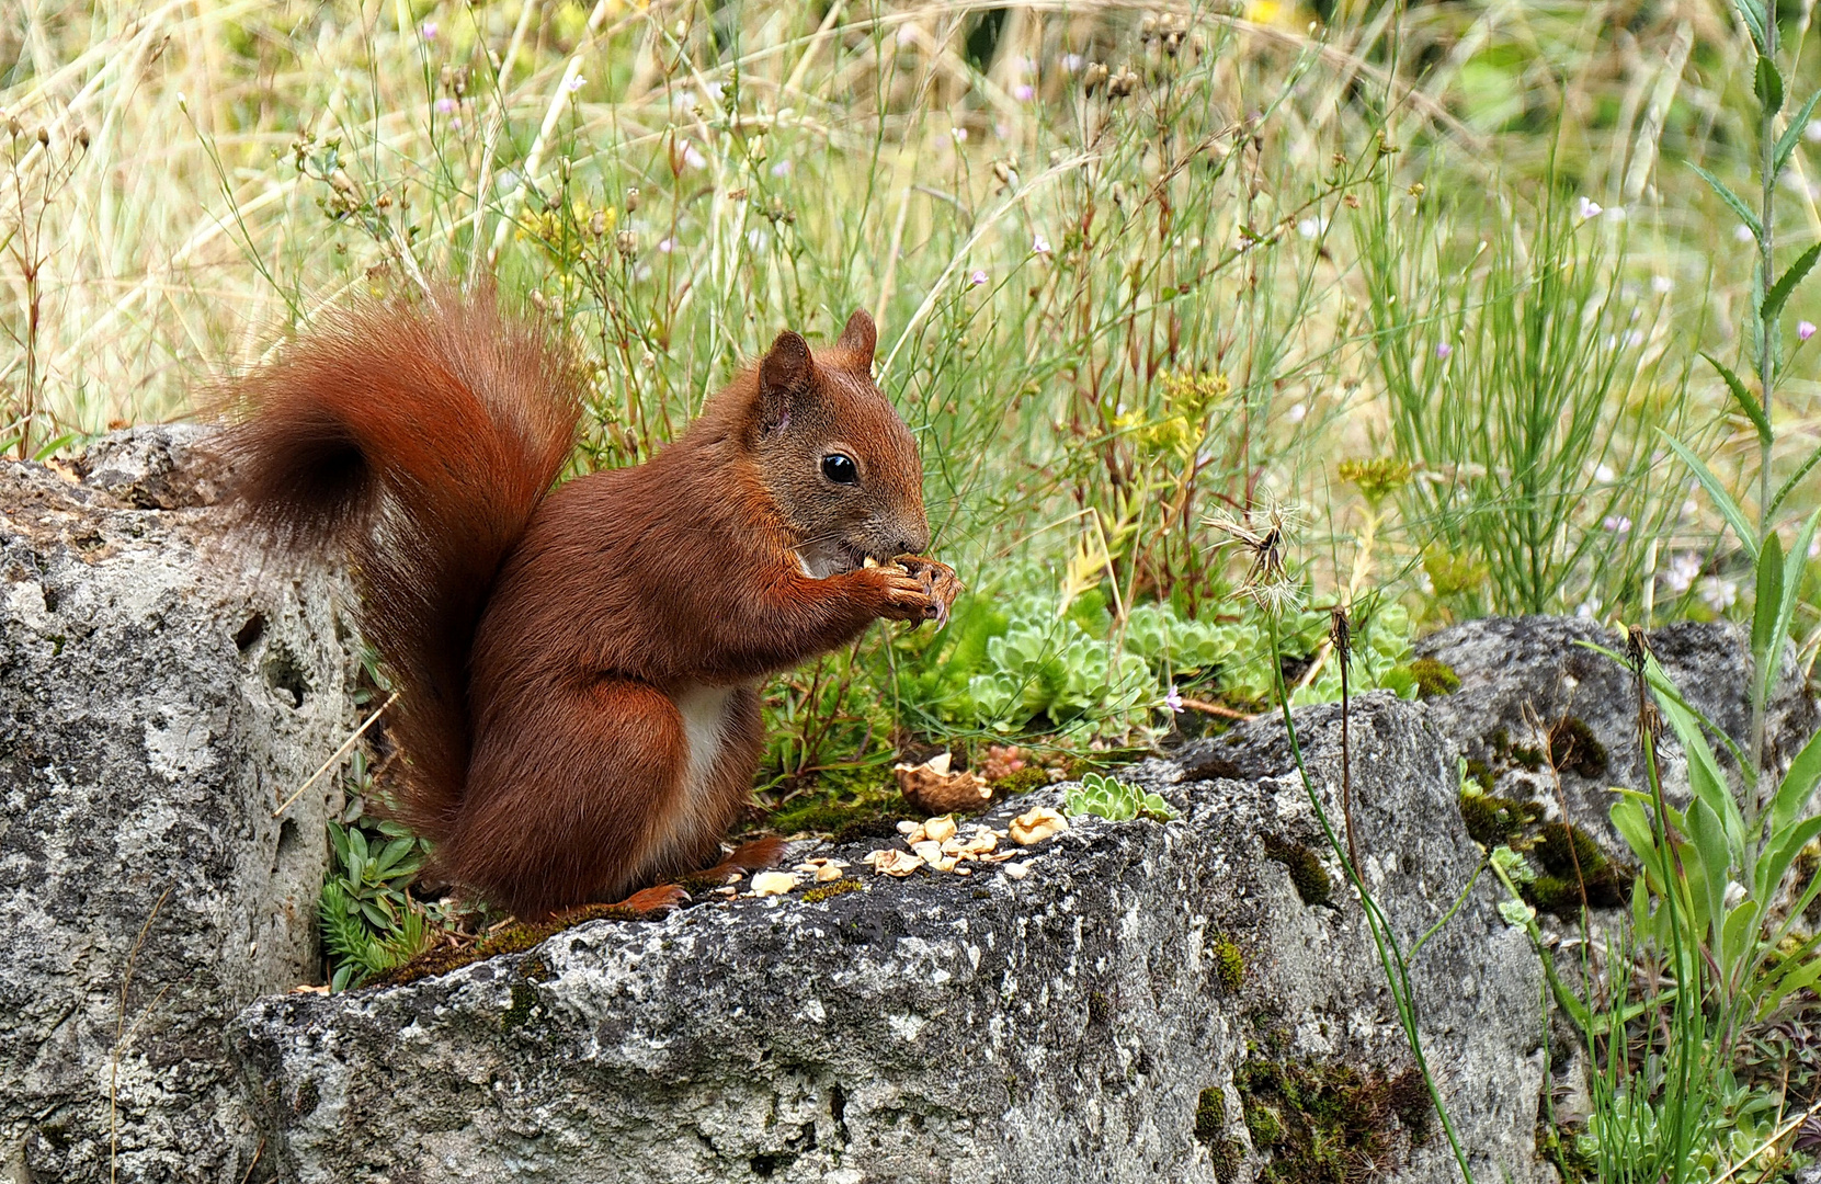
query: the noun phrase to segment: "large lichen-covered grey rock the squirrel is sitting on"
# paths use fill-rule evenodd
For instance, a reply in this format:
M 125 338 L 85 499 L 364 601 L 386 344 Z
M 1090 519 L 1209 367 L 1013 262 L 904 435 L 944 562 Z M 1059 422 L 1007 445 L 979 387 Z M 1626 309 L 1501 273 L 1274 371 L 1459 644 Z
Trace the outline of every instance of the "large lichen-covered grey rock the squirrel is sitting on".
M 1298 721 L 1338 825 L 1338 709 Z M 1420 705 L 1382 694 L 1355 703 L 1351 747 L 1360 858 L 1411 951 L 1479 860 L 1451 749 Z M 863 891 L 592 922 L 402 987 L 259 1000 L 231 1038 L 266 1138 L 260 1171 L 337 1184 L 1251 1180 L 1280 1151 L 1251 1148 L 1247 1064 L 1393 1078 L 1411 1055 L 1360 903 L 1338 885 L 1331 905 L 1306 903 L 1267 854 L 1328 851 L 1278 723 L 1122 776 L 1182 818 L 1076 820 L 1022 878 L 892 880 L 860 865 L 883 840 L 799 847 L 850 860 Z M 1533 1158 L 1539 969 L 1495 902 L 1482 878 L 1411 956 L 1420 1033 L 1479 1179 L 1548 1180 Z M 1220 973 L 1226 942 L 1246 967 L 1236 989 Z M 1400 1120 L 1384 1124 L 1386 1179 L 1455 1179 L 1439 1133 L 1411 1148 Z

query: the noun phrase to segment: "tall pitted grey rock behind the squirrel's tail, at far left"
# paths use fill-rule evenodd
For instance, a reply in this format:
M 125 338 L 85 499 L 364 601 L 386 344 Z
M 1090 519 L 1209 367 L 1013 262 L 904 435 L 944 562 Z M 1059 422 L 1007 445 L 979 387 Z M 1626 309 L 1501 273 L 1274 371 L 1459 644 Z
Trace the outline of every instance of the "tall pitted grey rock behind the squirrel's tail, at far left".
M 248 568 L 197 428 L 0 464 L 0 1180 L 240 1180 L 222 1038 L 317 971 L 331 581 Z

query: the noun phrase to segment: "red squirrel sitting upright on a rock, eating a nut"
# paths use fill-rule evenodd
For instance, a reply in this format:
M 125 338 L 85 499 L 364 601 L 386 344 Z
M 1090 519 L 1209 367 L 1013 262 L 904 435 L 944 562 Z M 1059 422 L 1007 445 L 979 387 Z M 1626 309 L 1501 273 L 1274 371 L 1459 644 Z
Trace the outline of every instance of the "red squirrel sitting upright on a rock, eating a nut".
M 490 295 L 333 315 L 231 384 L 246 515 L 351 561 L 426 874 L 546 916 L 703 869 L 750 798 L 758 681 L 947 616 L 874 341 L 865 311 L 827 350 L 779 333 L 676 443 L 559 486 L 585 372 Z

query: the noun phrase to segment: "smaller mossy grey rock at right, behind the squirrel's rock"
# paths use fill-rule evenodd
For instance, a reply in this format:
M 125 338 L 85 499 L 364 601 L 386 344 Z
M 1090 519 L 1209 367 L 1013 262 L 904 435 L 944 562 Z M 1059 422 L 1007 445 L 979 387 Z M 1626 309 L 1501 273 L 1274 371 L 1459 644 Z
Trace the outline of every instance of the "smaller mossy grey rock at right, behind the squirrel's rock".
M 1683 621 L 1648 634 L 1650 647 L 1683 696 L 1708 720 L 1745 743 L 1750 725 L 1746 639 L 1734 625 Z M 1604 845 L 1628 854 L 1612 827 L 1610 787 L 1646 789 L 1643 752 L 1637 745 L 1637 710 L 1632 674 L 1610 658 L 1586 648 L 1586 641 L 1623 650 L 1624 638 L 1595 621 L 1575 618 L 1488 618 L 1466 621 L 1417 641 L 1417 654 L 1448 663 L 1460 678 L 1453 694 L 1426 701 L 1437 727 L 1453 738 L 1459 752 L 1484 763 L 1497 791 L 1535 798 L 1551 816 L 1566 803 L 1570 822 L 1604 836 Z M 1550 752 L 1550 732 L 1564 721 L 1584 723 L 1597 741 L 1599 760 L 1577 754 L 1557 736 L 1559 769 L 1533 763 L 1519 749 Z M 1781 771 L 1821 729 L 1821 710 L 1808 687 L 1796 678 L 1794 663 L 1772 698 L 1766 714 L 1766 745 Z M 1724 747 L 1721 760 L 1734 767 Z M 1673 732 L 1659 749 L 1664 794 L 1688 796 L 1688 769 Z M 1557 796 L 1557 778 L 1561 796 Z

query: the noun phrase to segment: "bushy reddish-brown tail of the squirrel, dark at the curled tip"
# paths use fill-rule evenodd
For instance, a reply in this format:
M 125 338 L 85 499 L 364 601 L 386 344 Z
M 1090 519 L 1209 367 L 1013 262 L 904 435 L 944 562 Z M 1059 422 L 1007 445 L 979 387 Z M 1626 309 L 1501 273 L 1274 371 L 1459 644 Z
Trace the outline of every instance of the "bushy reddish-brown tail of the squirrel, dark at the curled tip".
M 353 563 L 401 690 L 401 822 L 443 838 L 468 769 L 468 648 L 493 577 L 575 446 L 585 377 L 490 291 L 339 311 L 228 390 L 251 525 Z

